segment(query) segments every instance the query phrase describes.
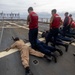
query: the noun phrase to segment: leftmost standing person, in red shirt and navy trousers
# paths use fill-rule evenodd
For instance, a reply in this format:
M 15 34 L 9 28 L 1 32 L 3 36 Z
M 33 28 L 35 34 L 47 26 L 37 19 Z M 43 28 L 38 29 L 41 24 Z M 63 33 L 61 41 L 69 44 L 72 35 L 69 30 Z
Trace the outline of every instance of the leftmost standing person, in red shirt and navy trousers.
M 31 47 L 36 49 L 36 40 L 38 36 L 38 15 L 33 11 L 32 7 L 28 8 L 27 24 L 29 25 L 29 42 Z

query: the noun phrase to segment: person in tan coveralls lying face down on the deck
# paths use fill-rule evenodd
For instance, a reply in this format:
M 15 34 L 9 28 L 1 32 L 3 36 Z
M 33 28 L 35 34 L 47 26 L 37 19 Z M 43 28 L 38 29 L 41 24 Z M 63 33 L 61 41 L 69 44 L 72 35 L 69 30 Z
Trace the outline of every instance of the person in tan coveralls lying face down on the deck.
M 20 51 L 22 64 L 26 69 L 26 75 L 33 75 L 33 73 L 29 69 L 29 54 L 37 57 L 46 58 L 48 61 L 51 61 L 51 59 L 45 54 L 35 51 L 31 47 L 25 45 L 24 41 L 19 39 L 18 37 L 13 38 L 13 40 L 15 41 L 14 44 L 12 44 L 10 48 L 7 48 L 6 51 L 12 48 L 17 48 Z

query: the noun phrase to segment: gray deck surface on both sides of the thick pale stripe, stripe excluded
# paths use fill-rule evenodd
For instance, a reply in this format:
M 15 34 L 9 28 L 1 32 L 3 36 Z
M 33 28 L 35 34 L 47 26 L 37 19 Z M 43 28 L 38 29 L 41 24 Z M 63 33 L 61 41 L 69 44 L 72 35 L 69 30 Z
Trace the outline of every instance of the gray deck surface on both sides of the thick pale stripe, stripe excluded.
M 4 29 L 0 51 L 13 43 L 11 40 L 12 36 L 28 39 L 28 30 L 21 28 Z M 63 56 L 58 55 L 57 63 L 53 61 L 48 63 L 42 58 L 30 56 L 30 69 L 34 75 L 75 75 L 75 57 L 72 55 L 75 52 L 75 46 L 70 45 L 68 52 L 65 52 L 63 47 L 60 47 L 60 49 L 64 54 Z M 39 63 L 35 65 L 33 63 L 34 60 L 37 60 Z M 0 75 L 25 75 L 19 52 L 0 59 Z

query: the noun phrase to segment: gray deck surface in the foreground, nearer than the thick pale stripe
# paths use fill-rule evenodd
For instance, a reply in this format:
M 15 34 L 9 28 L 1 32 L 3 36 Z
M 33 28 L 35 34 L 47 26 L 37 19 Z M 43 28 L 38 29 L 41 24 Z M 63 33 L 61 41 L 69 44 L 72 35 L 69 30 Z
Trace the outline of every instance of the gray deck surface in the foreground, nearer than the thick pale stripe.
M 48 63 L 42 58 L 30 56 L 30 68 L 34 75 L 75 75 L 75 60 L 72 55 L 72 46 L 69 48 L 69 52 L 64 52 L 64 55 L 58 57 L 58 63 Z M 20 53 L 16 52 L 9 56 L 0 59 L 0 75 L 25 75 L 25 69 L 23 68 L 20 60 Z M 33 63 L 33 60 L 39 61 L 37 65 Z

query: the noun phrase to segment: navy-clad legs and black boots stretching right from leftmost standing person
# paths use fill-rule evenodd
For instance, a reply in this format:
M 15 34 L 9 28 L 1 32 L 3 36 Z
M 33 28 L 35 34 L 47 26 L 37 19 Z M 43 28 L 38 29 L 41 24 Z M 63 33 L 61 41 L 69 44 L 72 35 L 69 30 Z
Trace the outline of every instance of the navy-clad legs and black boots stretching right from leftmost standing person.
M 37 50 L 48 55 L 49 57 L 52 57 L 54 59 L 55 63 L 57 63 L 57 58 L 54 55 L 54 52 L 58 51 L 60 53 L 60 55 L 63 55 L 62 51 L 60 51 L 59 49 L 56 49 L 54 47 L 49 47 L 45 43 L 43 43 L 39 40 L 37 40 Z

